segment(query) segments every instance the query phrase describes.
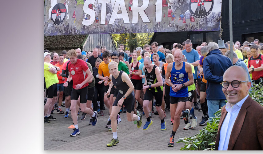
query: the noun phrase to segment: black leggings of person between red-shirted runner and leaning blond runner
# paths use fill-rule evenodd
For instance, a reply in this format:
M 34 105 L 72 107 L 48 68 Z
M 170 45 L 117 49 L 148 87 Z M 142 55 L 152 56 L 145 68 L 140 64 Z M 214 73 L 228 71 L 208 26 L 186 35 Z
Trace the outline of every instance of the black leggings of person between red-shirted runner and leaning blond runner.
M 104 105 L 104 85 L 102 86 L 95 86 L 95 91 L 94 91 L 94 97 L 93 97 L 93 111 L 98 111 L 98 100 L 100 101 L 100 110 L 103 109 L 103 105 Z

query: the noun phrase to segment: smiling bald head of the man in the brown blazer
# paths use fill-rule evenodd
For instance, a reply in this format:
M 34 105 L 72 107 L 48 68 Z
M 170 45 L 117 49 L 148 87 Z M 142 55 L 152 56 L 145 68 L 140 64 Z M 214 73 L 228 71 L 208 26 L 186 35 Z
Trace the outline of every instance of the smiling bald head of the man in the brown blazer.
M 225 98 L 232 106 L 248 95 L 249 88 L 251 87 L 250 82 L 239 83 L 237 88 L 231 85 L 231 82 L 234 80 L 246 81 L 245 75 L 247 75 L 245 70 L 237 66 L 229 68 L 223 75 L 223 81 L 229 82 L 229 86 L 228 88 L 222 88 L 222 91 L 225 94 Z

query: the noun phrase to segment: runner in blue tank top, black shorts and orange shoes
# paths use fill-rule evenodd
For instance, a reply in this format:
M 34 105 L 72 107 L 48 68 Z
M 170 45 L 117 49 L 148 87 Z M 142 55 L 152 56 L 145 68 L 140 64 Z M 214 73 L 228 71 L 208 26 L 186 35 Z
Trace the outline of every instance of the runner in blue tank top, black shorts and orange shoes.
M 165 81 L 170 87 L 170 111 L 174 119 L 173 130 L 168 143 L 169 147 L 174 146 L 174 135 L 180 124 L 180 117 L 183 116 L 185 124 L 189 122 L 189 109 L 182 112 L 188 100 L 187 86 L 193 84 L 192 68 L 188 63 L 182 61 L 183 53 L 177 49 L 173 54 L 174 62 L 167 66 Z M 170 77 L 171 76 L 171 77 Z M 170 79 L 169 79 L 170 78 Z M 189 80 L 188 80 L 189 78 Z

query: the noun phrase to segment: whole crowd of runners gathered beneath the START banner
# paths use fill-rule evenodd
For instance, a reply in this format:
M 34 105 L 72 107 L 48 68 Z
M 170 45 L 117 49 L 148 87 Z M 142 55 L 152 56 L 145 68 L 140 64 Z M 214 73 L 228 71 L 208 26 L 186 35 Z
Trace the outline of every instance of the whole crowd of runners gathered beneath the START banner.
M 238 41 L 235 44 L 228 41 L 223 47 L 203 42 L 196 50 L 189 39 L 174 43 L 172 50 L 158 46 L 157 42 L 132 52 L 124 50 L 123 44 L 119 44 L 117 51 L 99 45 L 87 52 L 79 48 L 60 54 L 44 50 L 44 122 L 56 120 L 51 115 L 55 112 L 65 114 L 74 123 L 70 136 L 76 136 L 80 134 L 80 112 L 80 119 L 87 116 L 93 126 L 98 115 L 105 116 L 108 118 L 105 127 L 113 132 L 113 139 L 106 146 L 114 146 L 119 143 L 120 112 L 126 113 L 127 120 L 134 121 L 137 128 L 144 121 L 143 130 L 153 124 L 154 114 L 160 117 L 160 130 L 166 130 L 166 121 L 173 125 L 168 142 L 173 147 L 180 118 L 185 130 L 195 128 L 194 109 L 203 112 L 199 125 L 205 125 L 225 105 L 222 82 L 225 70 L 232 66 L 230 45 L 233 45 L 233 65 L 244 67 L 250 82 L 262 83 L 263 44 L 258 39 L 245 41 L 242 46 Z M 231 83 L 234 84 L 237 83 Z M 103 113 L 105 106 L 109 117 Z M 165 121 L 168 111 L 171 118 Z

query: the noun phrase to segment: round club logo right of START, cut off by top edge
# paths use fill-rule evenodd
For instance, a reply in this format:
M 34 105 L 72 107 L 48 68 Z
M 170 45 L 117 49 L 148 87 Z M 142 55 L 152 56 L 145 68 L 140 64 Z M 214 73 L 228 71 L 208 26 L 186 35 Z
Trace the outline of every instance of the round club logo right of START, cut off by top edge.
M 207 17 L 213 9 L 214 0 L 190 0 L 189 11 L 195 18 Z

